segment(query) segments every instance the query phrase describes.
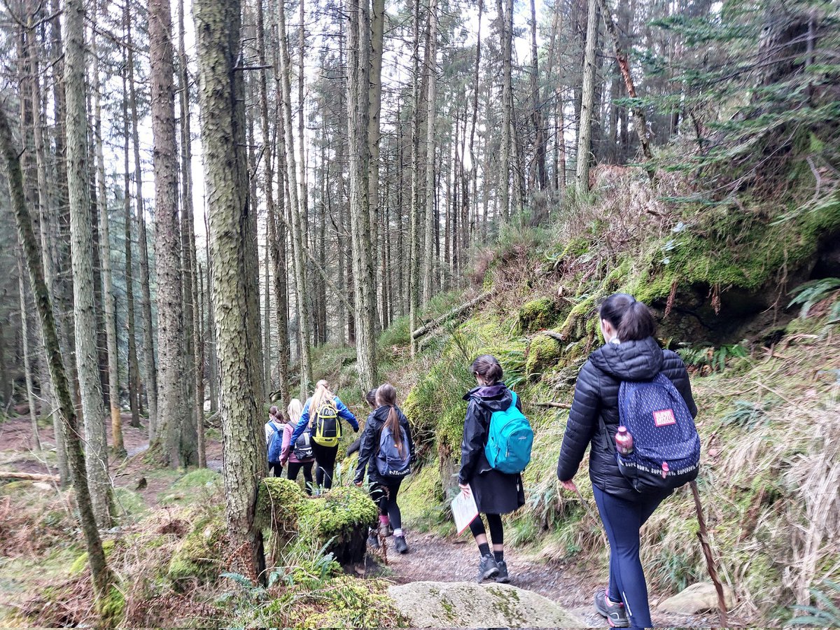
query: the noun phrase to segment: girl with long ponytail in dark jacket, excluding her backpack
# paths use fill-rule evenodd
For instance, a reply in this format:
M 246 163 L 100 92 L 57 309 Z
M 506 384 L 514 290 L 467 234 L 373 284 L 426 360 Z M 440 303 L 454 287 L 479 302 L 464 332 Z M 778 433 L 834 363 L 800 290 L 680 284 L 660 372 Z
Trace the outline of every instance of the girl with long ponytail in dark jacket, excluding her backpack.
M 414 460 L 414 442 L 407 417 L 399 407 L 396 407 L 394 387 L 390 383 L 385 383 L 376 389 L 375 396 L 378 407 L 370 412 L 365 423 L 365 430 L 362 432 L 359 464 L 356 466 L 354 481 L 356 486 L 361 486 L 365 480 L 365 469 L 367 469 L 370 498 L 379 506 L 380 527 L 387 530 L 390 524 L 394 528 L 394 547 L 400 554 L 406 554 L 408 545 L 402 533 L 402 514 L 400 507 L 396 504 L 396 495 L 400 491 L 404 477 L 383 475 L 375 459 L 379 454 L 382 431 L 385 428 L 388 428 L 393 436 L 399 453 L 407 455 L 409 463 Z M 405 441 L 403 441 L 403 433 Z M 371 547 L 379 546 L 379 540 L 373 531 L 370 532 L 368 543 Z

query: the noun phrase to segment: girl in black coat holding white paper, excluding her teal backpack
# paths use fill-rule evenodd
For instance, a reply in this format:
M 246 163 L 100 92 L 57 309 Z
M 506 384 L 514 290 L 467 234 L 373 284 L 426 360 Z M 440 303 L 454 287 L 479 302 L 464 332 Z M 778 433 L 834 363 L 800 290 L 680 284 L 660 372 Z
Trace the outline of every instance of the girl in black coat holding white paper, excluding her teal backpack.
M 505 562 L 504 528 L 501 515 L 525 505 L 522 475 L 503 473 L 491 467 L 484 453 L 493 412 L 506 411 L 513 404 L 512 392 L 501 382 L 499 361 L 491 354 L 482 354 L 470 367 L 478 387 L 467 392 L 467 415 L 464 420 L 464 440 L 461 443 L 461 470 L 458 485 L 465 493 L 472 492 L 479 515 L 470 523 L 470 532 L 478 543 L 481 559 L 478 580 L 496 578 L 508 582 Z M 522 407 L 517 398 L 517 409 Z M 493 541 L 493 554 L 481 514 L 487 518 Z

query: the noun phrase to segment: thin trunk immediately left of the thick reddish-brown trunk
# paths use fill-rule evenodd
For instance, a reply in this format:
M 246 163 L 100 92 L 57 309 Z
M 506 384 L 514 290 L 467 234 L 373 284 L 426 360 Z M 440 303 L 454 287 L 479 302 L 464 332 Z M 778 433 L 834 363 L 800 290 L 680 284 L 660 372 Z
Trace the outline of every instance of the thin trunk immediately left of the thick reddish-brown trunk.
M 158 437 L 158 384 L 155 361 L 155 339 L 152 322 L 152 298 L 149 280 L 149 241 L 146 238 L 146 211 L 143 198 L 143 169 L 140 166 L 140 135 L 138 131 L 137 87 L 134 83 L 134 45 L 131 38 L 131 11 L 125 3 L 126 41 L 129 55 L 129 107 L 131 108 L 131 129 L 134 142 L 134 186 L 137 203 L 137 240 L 140 254 L 140 319 L 143 322 L 143 381 L 146 402 L 149 406 L 149 441 Z M 167 21 L 170 24 L 171 20 Z M 170 29 L 171 30 L 171 29 Z M 173 113 L 174 116 L 174 113 Z M 168 191 L 170 194 L 172 191 Z M 177 192 L 177 188 L 176 191 Z M 160 211 L 161 208 L 156 208 Z M 160 297 L 159 297 L 160 299 Z

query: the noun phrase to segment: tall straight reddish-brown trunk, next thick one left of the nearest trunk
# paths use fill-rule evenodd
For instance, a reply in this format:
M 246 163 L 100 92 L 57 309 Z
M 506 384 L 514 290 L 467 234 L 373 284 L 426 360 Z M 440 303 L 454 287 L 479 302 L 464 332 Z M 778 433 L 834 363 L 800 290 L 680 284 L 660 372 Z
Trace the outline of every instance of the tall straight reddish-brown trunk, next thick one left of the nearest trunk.
M 191 417 L 188 409 L 192 403 L 186 403 L 181 387 L 184 327 L 170 0 L 152 0 L 149 12 L 159 354 L 157 439 L 162 447 L 161 460 L 176 468 L 194 463 L 196 453 L 195 440 L 188 438 L 190 432 L 182 434 L 184 423 Z

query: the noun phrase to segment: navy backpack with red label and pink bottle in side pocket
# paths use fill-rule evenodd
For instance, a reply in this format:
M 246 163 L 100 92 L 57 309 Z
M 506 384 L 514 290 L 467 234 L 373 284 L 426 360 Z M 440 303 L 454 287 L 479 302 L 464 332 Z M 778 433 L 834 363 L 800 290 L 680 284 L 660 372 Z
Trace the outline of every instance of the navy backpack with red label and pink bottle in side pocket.
M 664 374 L 653 381 L 622 381 L 618 417 L 633 436 L 633 452 L 615 453 L 618 470 L 636 491 L 679 488 L 700 470 L 700 436 L 680 392 Z M 609 434 L 607 433 L 607 436 Z

